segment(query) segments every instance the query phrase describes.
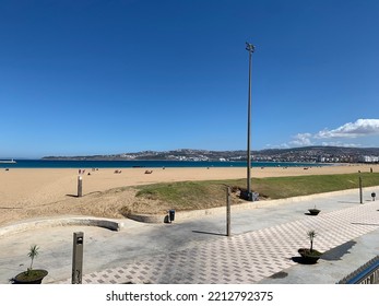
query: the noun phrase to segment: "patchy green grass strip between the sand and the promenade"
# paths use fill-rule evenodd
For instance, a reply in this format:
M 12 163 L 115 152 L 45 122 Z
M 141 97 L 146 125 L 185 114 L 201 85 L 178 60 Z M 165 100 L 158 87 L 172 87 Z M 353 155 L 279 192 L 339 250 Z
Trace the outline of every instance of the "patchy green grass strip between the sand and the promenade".
M 379 186 L 379 174 L 312 175 L 253 178 L 252 191 L 261 199 L 284 199 L 359 187 Z M 138 186 L 137 198 L 169 203 L 173 209 L 194 210 L 225 205 L 226 186 L 246 188 L 246 179 L 163 183 Z

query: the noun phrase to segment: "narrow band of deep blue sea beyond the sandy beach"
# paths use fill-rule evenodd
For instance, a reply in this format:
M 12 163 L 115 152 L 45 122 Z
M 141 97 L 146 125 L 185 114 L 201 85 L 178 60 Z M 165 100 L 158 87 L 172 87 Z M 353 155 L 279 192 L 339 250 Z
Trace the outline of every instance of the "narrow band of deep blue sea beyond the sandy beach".
M 170 167 L 246 167 L 247 162 L 190 162 L 190 161 L 71 161 L 71 160 L 15 160 L 0 163 L 0 168 L 170 168 Z M 320 167 L 330 164 L 252 162 L 251 167 Z

